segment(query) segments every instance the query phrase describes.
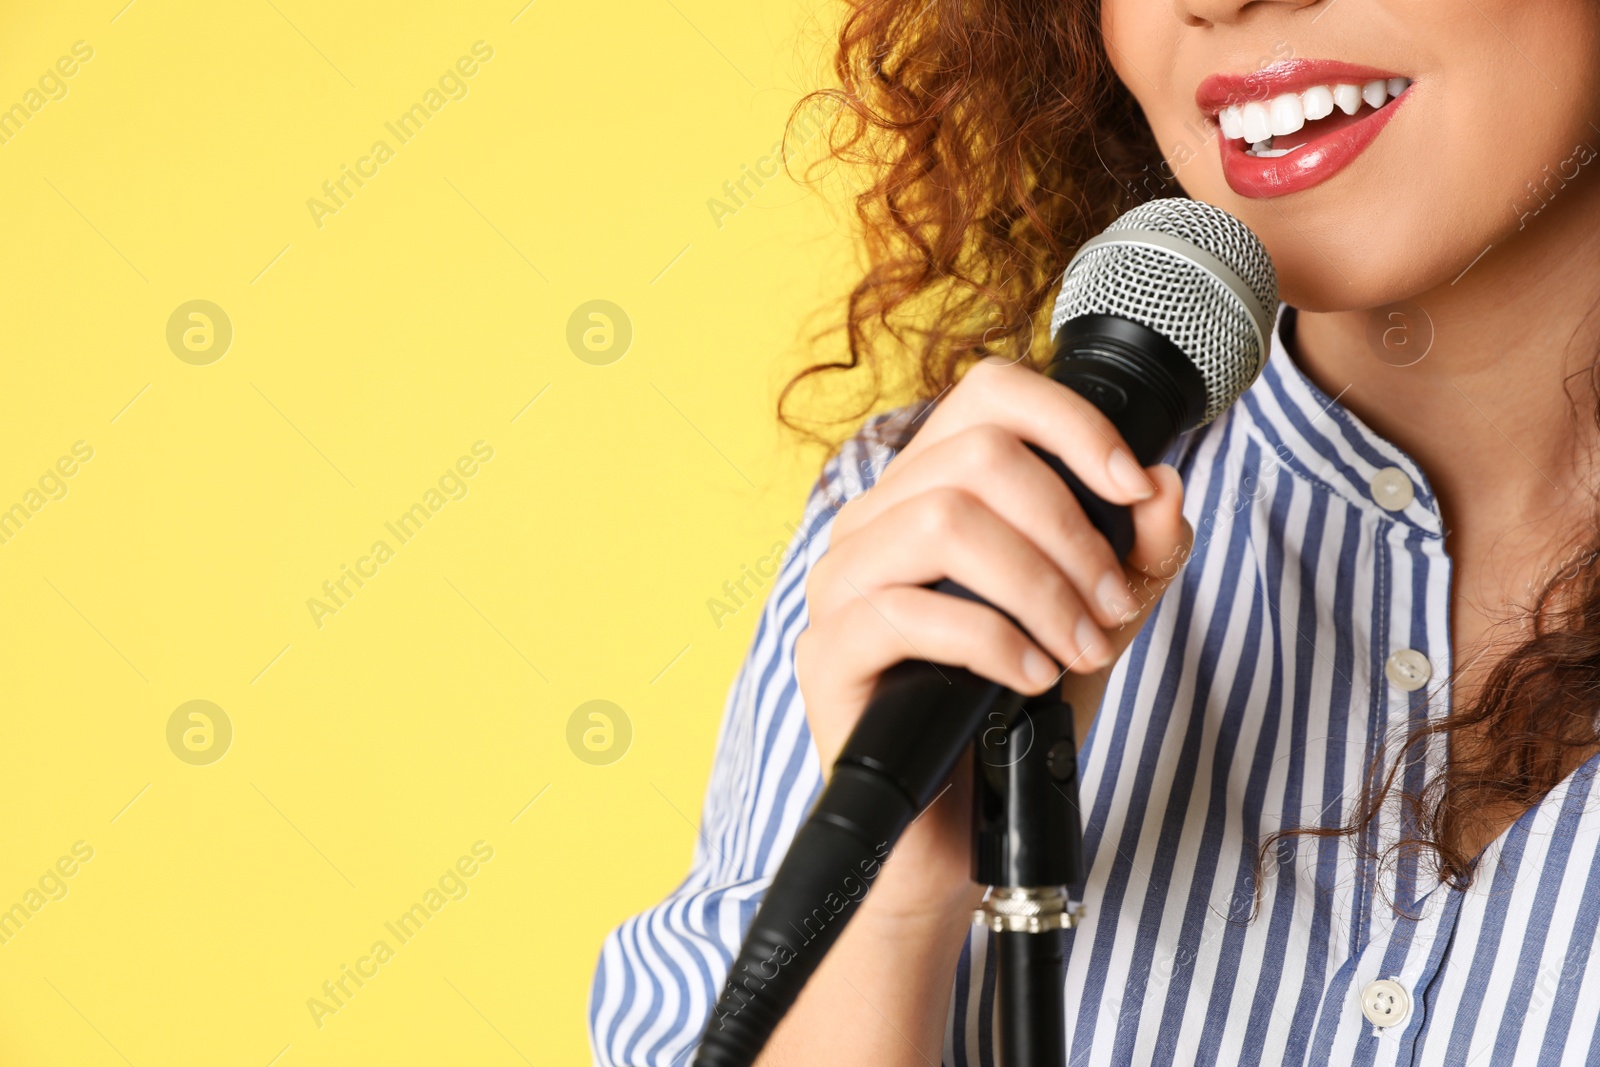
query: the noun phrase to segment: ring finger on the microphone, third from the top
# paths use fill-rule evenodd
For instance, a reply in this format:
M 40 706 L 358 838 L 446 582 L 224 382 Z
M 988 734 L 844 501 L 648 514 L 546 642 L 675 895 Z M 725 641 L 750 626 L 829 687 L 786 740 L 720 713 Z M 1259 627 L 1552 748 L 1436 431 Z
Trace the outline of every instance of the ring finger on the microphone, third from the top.
M 830 544 L 806 585 L 813 625 L 834 625 L 834 613 L 854 598 L 942 577 L 1014 617 L 1069 669 L 1094 670 L 1112 656 L 1062 569 L 981 499 L 952 486 L 893 504 L 861 536 Z

